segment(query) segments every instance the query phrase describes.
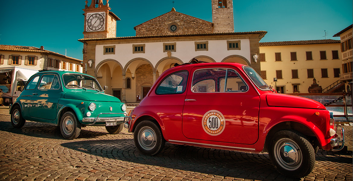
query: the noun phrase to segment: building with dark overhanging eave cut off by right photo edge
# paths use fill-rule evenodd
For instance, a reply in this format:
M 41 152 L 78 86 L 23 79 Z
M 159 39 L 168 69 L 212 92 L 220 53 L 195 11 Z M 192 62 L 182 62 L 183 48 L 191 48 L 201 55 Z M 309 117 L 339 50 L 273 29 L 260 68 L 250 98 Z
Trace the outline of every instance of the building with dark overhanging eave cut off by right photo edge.
M 346 92 L 352 91 L 351 86 L 348 85 L 352 82 L 352 58 L 353 58 L 353 48 L 352 48 L 352 27 L 348 26 L 342 31 L 334 35 L 334 37 L 339 36 L 341 38 L 341 52 L 342 52 L 342 74 L 340 75 L 340 80 L 345 84 Z

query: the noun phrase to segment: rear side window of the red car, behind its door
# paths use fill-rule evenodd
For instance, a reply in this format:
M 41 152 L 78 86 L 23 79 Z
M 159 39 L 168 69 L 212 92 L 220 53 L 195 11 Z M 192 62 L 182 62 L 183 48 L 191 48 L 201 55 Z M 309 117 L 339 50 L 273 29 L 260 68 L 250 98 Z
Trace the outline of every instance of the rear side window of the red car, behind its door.
M 183 93 L 186 89 L 188 74 L 187 71 L 170 74 L 158 85 L 156 94 Z

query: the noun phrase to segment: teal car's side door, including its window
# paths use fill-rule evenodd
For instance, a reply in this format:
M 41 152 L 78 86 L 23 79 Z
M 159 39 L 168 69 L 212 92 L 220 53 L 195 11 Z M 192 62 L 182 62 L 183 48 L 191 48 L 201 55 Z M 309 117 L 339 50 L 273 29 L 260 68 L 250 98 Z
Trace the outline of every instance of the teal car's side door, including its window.
M 31 107 L 29 108 L 30 116 L 55 120 L 62 92 L 59 75 L 54 73 L 44 74 L 33 92 Z

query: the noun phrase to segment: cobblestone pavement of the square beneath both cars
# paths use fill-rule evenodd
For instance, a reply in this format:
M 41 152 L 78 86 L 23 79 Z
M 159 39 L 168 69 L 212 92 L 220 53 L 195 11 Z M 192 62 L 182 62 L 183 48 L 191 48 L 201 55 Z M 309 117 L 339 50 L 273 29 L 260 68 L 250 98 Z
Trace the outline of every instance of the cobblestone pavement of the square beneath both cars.
M 166 143 L 158 155 L 145 156 L 126 129 L 112 135 L 85 127 L 77 139 L 65 140 L 56 126 L 43 123 L 15 129 L 7 111 L 0 110 L 0 180 L 352 180 L 352 151 L 319 150 L 312 173 L 291 179 L 274 169 L 267 153 Z M 345 129 L 352 140 L 352 126 Z

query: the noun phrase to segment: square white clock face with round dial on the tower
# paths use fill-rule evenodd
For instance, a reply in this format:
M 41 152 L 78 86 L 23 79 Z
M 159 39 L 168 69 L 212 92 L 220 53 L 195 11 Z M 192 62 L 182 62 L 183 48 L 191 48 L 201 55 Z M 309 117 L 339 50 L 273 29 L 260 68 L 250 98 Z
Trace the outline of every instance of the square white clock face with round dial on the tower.
M 105 25 L 105 12 L 87 13 L 86 31 L 103 31 Z

